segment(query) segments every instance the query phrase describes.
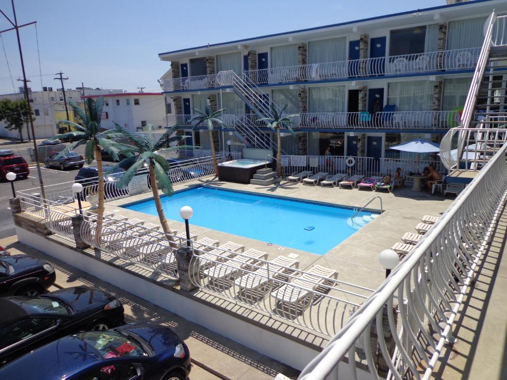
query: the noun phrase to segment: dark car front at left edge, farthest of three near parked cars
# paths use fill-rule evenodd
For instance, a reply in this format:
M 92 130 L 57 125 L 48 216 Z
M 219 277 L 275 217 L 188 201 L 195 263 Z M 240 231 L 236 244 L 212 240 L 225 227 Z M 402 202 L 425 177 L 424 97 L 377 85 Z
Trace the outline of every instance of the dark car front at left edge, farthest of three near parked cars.
M 54 284 L 55 279 L 55 269 L 38 257 L 12 255 L 0 258 L 0 296 L 41 294 Z

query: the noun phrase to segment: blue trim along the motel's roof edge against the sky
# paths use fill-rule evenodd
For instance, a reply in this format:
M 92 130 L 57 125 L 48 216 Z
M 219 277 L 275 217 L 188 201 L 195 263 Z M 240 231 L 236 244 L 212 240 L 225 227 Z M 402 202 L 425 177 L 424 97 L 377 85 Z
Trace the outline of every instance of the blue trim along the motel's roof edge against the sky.
M 266 34 L 266 35 L 261 35 L 261 36 L 257 36 L 257 37 L 251 37 L 251 38 L 248 38 L 248 39 L 233 40 L 233 41 L 221 42 L 221 43 L 217 43 L 217 44 L 208 44 L 208 45 L 203 45 L 203 46 L 196 46 L 194 48 L 172 50 L 172 51 L 169 51 L 169 52 L 160 53 L 159 57 L 162 56 L 162 55 L 166 55 L 166 54 L 181 53 L 181 52 L 195 50 L 195 49 L 205 49 L 205 48 L 208 48 L 208 47 L 222 46 L 222 45 L 228 45 L 228 44 L 237 44 L 239 42 L 261 40 L 261 39 L 265 39 L 265 38 L 269 38 L 269 37 L 276 37 L 276 36 L 281 36 L 281 35 L 286 35 L 286 34 L 301 33 L 301 32 L 306 32 L 306 31 L 311 31 L 311 30 L 320 30 L 320 29 L 326 29 L 326 28 L 333 28 L 333 27 L 337 27 L 337 26 L 345 26 L 345 25 L 355 24 L 355 23 L 359 23 L 359 22 L 381 20 L 383 18 L 389 18 L 389 17 L 409 15 L 409 14 L 413 14 L 415 12 L 420 12 L 420 13 L 422 13 L 422 12 L 431 12 L 431 11 L 436 11 L 436 10 L 439 10 L 439 9 L 461 7 L 461 6 L 467 6 L 467 5 L 470 5 L 470 4 L 487 3 L 487 2 L 491 2 L 491 1 L 493 1 L 493 0 L 475 0 L 475 1 L 470 1 L 470 2 L 466 2 L 466 3 L 457 3 L 457 4 L 450 4 L 450 5 L 442 5 L 442 6 L 438 6 L 438 7 L 431 7 L 431 8 L 417 9 L 417 10 L 414 9 L 412 11 L 392 13 L 392 14 L 389 14 L 389 15 L 369 17 L 369 18 L 364 18 L 364 19 L 359 19 L 359 20 L 354 20 L 354 21 L 340 22 L 340 23 L 337 23 L 337 24 L 316 26 L 316 27 L 313 27 L 313 28 L 305 28 L 305 29 L 298 29 L 298 30 L 291 30 L 291 31 L 281 32 L 281 33 Z

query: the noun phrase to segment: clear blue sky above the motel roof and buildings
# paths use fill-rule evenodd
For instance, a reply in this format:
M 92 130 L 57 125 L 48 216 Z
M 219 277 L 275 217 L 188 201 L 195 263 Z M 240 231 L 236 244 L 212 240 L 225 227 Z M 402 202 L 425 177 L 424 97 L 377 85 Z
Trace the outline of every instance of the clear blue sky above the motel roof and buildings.
M 135 92 L 160 91 L 157 79 L 169 69 L 162 52 L 440 5 L 445 0 L 15 0 L 19 25 L 37 21 L 20 29 L 32 90 L 59 88 L 54 74 L 62 71 L 65 88 Z M 11 0 L 0 9 L 13 19 Z M 0 30 L 11 26 L 0 14 Z M 0 94 L 17 92 L 16 32 L 1 36 Z

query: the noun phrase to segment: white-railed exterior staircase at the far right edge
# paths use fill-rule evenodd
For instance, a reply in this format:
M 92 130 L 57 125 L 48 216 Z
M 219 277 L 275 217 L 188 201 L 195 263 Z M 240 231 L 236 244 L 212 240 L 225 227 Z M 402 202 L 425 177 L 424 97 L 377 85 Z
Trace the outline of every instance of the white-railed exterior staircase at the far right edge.
M 493 12 L 463 107 L 461 125 L 442 138 L 440 156 L 449 171 L 446 182 L 469 183 L 507 141 L 507 16 Z

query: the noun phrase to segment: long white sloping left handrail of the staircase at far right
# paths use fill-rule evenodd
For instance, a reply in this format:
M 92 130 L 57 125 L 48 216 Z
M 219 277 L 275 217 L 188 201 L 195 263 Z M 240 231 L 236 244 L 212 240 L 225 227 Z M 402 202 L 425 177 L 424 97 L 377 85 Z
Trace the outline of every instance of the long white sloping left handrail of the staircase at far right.
M 479 54 L 479 59 L 477 60 L 477 67 L 474 72 L 474 77 L 472 78 L 472 83 L 470 84 L 468 95 L 466 96 L 465 105 L 463 107 L 463 115 L 461 117 L 461 127 L 463 128 L 469 128 L 470 121 L 472 120 L 472 115 L 477 102 L 477 96 L 481 87 L 481 82 L 486 71 L 486 66 L 488 65 L 489 52 L 492 45 L 493 25 L 495 24 L 495 21 L 496 15 L 495 11 L 493 10 L 484 25 L 484 42 L 482 44 L 481 53 Z M 463 154 L 463 137 L 464 134 L 462 131 L 460 131 L 458 136 L 458 150 L 456 156 L 456 164 L 458 168 L 461 161 L 461 156 Z

